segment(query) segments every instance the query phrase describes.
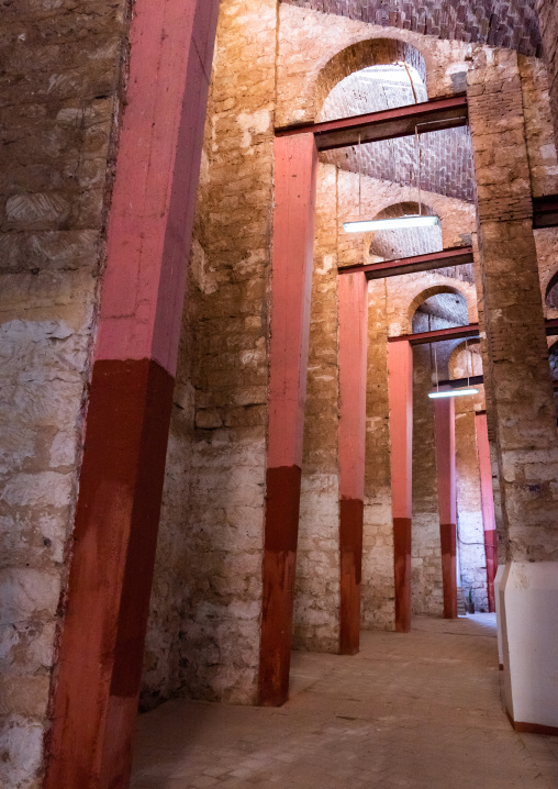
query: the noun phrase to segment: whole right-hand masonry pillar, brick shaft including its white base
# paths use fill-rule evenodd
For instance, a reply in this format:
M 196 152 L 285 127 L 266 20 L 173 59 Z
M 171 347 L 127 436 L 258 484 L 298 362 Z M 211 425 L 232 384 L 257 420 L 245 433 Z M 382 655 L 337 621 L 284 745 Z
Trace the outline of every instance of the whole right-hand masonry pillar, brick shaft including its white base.
M 507 535 L 499 584 L 504 699 L 516 730 L 558 734 L 558 438 L 516 53 L 478 55 L 468 85 L 484 377 Z

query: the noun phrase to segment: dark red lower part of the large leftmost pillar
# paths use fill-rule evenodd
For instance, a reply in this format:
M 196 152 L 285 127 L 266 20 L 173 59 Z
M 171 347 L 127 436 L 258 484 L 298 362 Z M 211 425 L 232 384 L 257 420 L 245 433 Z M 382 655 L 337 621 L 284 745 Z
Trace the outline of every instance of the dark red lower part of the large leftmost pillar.
M 147 359 L 93 367 L 46 789 L 127 786 L 172 389 Z

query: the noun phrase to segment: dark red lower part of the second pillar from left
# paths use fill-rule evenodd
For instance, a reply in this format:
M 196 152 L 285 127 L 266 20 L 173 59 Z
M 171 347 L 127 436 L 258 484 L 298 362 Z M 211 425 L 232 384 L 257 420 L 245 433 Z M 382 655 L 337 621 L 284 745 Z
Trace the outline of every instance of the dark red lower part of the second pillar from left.
M 265 707 L 280 707 L 289 696 L 300 480 L 298 466 L 269 468 L 266 475 L 259 656 L 259 703 Z

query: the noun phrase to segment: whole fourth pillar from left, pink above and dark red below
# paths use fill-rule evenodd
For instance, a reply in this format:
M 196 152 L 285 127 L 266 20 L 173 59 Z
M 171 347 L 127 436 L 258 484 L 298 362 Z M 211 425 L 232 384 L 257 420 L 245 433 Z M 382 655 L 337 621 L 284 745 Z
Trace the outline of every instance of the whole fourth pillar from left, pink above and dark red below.
M 411 519 L 413 499 L 413 349 L 388 343 L 391 438 L 391 509 L 395 577 L 395 630 L 411 630 Z

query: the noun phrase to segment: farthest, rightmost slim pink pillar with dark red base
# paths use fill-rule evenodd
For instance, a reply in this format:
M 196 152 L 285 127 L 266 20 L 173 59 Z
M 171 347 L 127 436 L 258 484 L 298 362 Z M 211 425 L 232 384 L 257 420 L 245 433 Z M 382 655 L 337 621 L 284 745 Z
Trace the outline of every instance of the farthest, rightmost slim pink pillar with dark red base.
M 480 497 L 482 504 L 482 523 L 484 526 L 484 551 L 487 554 L 487 589 L 489 611 L 496 610 L 494 598 L 494 578 L 498 570 L 496 521 L 494 515 L 494 496 L 492 492 L 492 466 L 490 463 L 490 444 L 488 437 L 487 412 L 475 414 L 477 427 L 477 451 L 479 453 Z

